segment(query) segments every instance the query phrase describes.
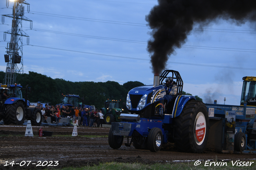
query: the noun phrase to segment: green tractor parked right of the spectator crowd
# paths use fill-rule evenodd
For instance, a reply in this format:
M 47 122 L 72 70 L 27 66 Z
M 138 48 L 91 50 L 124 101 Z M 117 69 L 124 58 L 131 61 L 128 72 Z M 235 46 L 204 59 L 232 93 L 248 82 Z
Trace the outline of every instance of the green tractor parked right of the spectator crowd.
M 104 115 L 104 122 L 111 125 L 112 122 L 120 121 L 120 114 L 122 109 L 119 108 L 118 100 L 107 100 L 105 102 L 105 108 L 101 108 Z

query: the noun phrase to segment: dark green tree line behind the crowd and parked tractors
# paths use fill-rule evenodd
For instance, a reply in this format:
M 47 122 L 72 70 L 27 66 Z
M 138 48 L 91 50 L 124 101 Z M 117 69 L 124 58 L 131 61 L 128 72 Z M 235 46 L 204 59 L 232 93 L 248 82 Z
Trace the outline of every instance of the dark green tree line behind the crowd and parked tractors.
M 5 72 L 0 72 L 0 80 L 3 82 Z M 28 94 L 30 102 L 50 102 L 52 105 L 62 103 L 62 94 L 78 94 L 84 98 L 84 104 L 94 105 L 96 108 L 104 107 L 106 100 L 120 101 L 120 107 L 126 109 L 126 96 L 135 87 L 144 84 L 138 81 L 128 81 L 123 85 L 118 82 L 71 82 L 61 78 L 50 78 L 46 75 L 29 71 L 28 74 L 18 74 L 16 83 L 24 88 L 28 84 L 32 88 Z M 182 94 L 192 95 L 186 92 Z M 197 100 L 202 101 L 196 96 Z

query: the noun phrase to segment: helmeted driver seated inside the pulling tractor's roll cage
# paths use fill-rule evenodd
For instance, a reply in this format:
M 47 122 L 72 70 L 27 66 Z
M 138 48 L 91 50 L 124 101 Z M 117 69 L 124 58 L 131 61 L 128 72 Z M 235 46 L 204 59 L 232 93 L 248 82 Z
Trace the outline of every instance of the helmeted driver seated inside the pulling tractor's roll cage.
M 165 79 L 166 84 L 164 85 L 165 91 L 166 91 L 166 98 L 168 100 L 168 103 L 174 98 L 174 96 L 177 94 L 178 86 L 173 83 L 172 77 L 167 77 Z

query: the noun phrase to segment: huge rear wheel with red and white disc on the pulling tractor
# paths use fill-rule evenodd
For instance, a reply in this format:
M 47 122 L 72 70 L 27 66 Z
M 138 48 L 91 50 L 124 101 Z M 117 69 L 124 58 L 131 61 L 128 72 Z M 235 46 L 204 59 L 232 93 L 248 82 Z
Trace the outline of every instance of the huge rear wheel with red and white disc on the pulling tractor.
M 209 135 L 209 117 L 203 102 L 190 100 L 175 119 L 175 146 L 182 152 L 203 152 Z

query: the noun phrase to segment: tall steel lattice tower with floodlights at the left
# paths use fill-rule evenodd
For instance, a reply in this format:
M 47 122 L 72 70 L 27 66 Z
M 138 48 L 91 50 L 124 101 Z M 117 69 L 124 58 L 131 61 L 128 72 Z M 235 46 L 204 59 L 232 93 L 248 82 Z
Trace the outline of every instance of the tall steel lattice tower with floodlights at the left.
M 4 84 L 14 84 L 18 73 L 23 74 L 23 50 L 22 50 L 22 37 L 29 37 L 24 31 L 22 31 L 22 20 L 30 21 L 24 16 L 23 4 L 29 5 L 25 0 L 10 0 L 14 2 L 12 14 L 2 15 L 12 19 L 12 29 L 5 31 L 4 33 L 11 34 L 11 41 L 7 43 L 6 55 L 4 60 L 6 65 L 6 74 Z M 9 1 L 6 0 L 6 6 L 9 6 Z M 31 28 L 30 23 L 30 28 Z M 27 40 L 28 41 L 28 40 Z M 17 65 L 19 64 L 19 65 Z

